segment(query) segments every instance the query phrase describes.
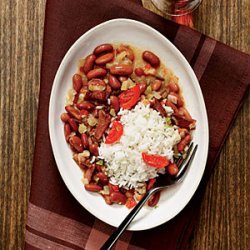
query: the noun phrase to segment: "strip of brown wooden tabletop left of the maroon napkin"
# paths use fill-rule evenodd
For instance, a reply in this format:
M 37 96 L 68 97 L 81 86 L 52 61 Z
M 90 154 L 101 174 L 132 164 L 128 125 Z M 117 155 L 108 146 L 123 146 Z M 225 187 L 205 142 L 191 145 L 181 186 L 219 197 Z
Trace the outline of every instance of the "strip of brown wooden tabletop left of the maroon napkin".
M 0 249 L 24 247 L 45 1 L 0 1 Z

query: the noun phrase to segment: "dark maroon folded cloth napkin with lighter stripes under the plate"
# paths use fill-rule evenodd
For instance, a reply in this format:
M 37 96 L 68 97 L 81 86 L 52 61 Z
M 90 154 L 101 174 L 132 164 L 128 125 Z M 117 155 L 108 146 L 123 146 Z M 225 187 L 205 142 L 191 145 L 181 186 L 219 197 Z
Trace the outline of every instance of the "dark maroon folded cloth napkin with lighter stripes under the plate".
M 115 249 L 188 247 L 205 184 L 248 92 L 250 56 L 195 30 L 167 21 L 144 9 L 138 1 L 47 0 L 26 249 L 98 249 L 114 230 L 87 212 L 64 185 L 51 150 L 48 107 L 57 68 L 69 47 L 95 25 L 121 17 L 139 20 L 157 29 L 189 61 L 205 98 L 210 144 L 202 182 L 185 209 L 156 228 L 126 231 Z

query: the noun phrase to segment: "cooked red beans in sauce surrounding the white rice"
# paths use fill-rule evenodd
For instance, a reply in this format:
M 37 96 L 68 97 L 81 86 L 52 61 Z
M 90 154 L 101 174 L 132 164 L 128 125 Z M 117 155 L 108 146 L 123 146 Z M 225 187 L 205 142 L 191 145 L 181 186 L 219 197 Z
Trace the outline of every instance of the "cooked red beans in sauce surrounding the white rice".
M 136 56 L 138 54 L 139 57 Z M 143 102 L 163 117 L 167 117 L 165 108 L 170 107 L 173 119 L 169 122 L 179 127 L 181 135 L 176 147 L 178 152 L 182 153 L 191 141 L 195 120 L 185 108 L 178 79 L 168 72 L 152 51 L 106 43 L 97 46 L 82 60 L 72 76 L 66 112 L 60 116 L 65 140 L 74 152 L 74 160 L 84 171 L 85 189 L 99 192 L 109 205 L 116 203 L 134 207 L 136 200 L 140 200 L 156 181 L 151 179 L 144 183 L 145 188 L 140 193 L 109 182 L 105 162 L 98 158 L 98 148 L 111 131 L 111 124 L 119 124 L 121 107 L 131 109 L 138 102 Z M 121 135 L 115 134 L 119 126 L 112 127 L 114 134 L 109 135 L 110 140 L 120 138 Z M 169 163 L 166 172 L 176 175 L 178 166 Z M 158 192 L 150 198 L 148 205 L 155 206 L 159 199 Z

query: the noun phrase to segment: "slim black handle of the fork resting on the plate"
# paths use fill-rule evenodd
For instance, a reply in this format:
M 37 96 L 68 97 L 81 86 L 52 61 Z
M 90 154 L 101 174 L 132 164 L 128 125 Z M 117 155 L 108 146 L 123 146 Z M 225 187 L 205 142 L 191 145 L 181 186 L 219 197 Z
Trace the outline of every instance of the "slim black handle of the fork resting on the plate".
M 131 221 L 134 219 L 134 217 L 137 215 L 137 213 L 141 210 L 145 202 L 149 199 L 149 197 L 158 191 L 157 188 L 153 188 L 149 190 L 143 198 L 137 203 L 137 205 L 133 208 L 133 210 L 127 215 L 127 217 L 122 221 L 120 226 L 111 234 L 111 236 L 108 238 L 108 240 L 103 244 L 103 246 L 100 248 L 101 250 L 109 250 L 112 248 L 112 246 L 116 243 L 120 235 L 123 233 L 123 231 L 128 227 L 128 225 L 131 223 Z

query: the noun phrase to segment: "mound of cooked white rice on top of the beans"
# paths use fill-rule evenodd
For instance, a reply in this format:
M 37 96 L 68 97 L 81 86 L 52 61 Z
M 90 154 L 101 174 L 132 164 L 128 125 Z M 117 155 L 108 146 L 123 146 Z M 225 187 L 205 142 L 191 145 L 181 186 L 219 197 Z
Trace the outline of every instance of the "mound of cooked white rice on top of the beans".
M 173 161 L 173 146 L 181 138 L 176 128 L 166 126 L 165 118 L 141 102 L 133 110 L 121 110 L 119 115 L 124 133 L 117 143 L 102 143 L 99 158 L 106 161 L 112 184 L 139 188 L 145 181 L 165 171 L 164 168 L 146 165 L 142 160 L 142 152 L 166 156 Z

